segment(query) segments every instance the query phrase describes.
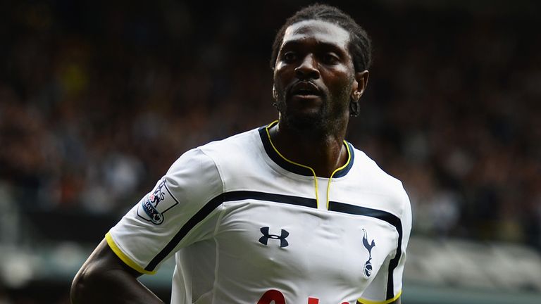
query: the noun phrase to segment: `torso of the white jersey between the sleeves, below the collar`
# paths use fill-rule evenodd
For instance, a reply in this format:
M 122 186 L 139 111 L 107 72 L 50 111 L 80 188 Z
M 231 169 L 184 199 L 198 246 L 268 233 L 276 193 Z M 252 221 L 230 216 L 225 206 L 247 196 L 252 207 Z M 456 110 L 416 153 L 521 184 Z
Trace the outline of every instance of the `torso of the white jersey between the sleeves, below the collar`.
M 403 206 L 394 179 L 363 154 L 332 179 L 327 203 L 329 179 L 318 178 L 316 200 L 314 177 L 276 163 L 264 145 L 201 149 L 216 163 L 224 194 L 201 223 L 212 226 L 211 236 L 177 256 L 175 281 L 192 286 L 191 303 L 356 303 L 378 272 L 390 271 Z

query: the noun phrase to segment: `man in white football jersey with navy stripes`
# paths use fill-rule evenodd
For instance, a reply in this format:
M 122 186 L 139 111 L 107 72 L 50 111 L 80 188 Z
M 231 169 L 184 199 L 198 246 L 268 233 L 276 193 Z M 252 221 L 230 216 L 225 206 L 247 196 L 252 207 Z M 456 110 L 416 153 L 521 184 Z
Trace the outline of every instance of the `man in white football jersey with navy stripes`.
M 172 303 L 399 303 L 409 199 L 344 141 L 370 58 L 337 8 L 288 19 L 278 122 L 181 156 L 82 266 L 73 303 L 161 303 L 137 277 L 173 254 Z

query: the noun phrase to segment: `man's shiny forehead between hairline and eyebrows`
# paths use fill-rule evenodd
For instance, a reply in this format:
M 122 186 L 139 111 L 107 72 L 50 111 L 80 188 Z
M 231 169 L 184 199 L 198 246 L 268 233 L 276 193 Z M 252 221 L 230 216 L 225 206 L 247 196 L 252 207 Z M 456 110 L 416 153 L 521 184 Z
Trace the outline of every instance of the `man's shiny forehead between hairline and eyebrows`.
M 288 42 L 304 42 L 313 39 L 318 43 L 334 44 L 347 49 L 349 32 L 339 25 L 323 20 L 304 20 L 293 23 L 285 30 L 282 46 Z

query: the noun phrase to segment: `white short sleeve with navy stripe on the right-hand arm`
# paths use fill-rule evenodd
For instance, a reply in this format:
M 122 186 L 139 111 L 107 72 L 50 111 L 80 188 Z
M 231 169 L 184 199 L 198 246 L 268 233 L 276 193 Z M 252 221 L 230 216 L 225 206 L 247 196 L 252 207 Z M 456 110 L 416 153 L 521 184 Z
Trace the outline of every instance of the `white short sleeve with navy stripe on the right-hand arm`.
M 402 215 L 395 225 L 399 234 L 397 251 L 387 257 L 378 274 L 363 292 L 363 296 L 359 298 L 359 302 L 363 304 L 392 303 L 402 294 L 402 275 L 411 233 L 411 205 L 403 188 L 399 199 L 402 204 Z

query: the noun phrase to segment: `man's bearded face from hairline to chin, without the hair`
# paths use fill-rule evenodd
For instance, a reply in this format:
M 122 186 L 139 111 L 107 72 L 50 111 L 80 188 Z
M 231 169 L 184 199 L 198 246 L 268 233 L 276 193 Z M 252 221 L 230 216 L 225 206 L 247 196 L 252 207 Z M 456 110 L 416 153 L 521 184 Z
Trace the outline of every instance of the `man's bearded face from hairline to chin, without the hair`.
M 349 99 L 358 87 L 348 43 L 346 30 L 325 21 L 287 27 L 274 68 L 280 120 L 325 130 L 347 122 Z

